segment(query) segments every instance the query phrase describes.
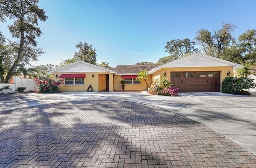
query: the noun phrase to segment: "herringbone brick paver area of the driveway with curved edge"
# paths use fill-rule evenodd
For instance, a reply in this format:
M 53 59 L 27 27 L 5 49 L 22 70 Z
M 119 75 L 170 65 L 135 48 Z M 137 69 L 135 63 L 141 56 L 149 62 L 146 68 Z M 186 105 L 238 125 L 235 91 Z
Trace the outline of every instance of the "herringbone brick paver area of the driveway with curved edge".
M 0 112 L 0 167 L 256 167 L 256 157 L 181 115 L 77 101 Z

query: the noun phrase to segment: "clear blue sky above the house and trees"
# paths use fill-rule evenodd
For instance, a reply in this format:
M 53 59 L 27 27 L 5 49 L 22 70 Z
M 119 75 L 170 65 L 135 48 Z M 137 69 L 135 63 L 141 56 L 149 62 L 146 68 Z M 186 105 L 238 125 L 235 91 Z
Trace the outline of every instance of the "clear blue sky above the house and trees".
M 79 42 L 92 44 L 97 62 L 110 66 L 156 63 L 166 42 L 190 38 L 203 29 L 237 26 L 235 36 L 256 28 L 255 0 L 40 0 L 48 16 L 37 39 L 46 52 L 33 65 L 59 65 Z M 10 38 L 6 24 L 0 30 Z

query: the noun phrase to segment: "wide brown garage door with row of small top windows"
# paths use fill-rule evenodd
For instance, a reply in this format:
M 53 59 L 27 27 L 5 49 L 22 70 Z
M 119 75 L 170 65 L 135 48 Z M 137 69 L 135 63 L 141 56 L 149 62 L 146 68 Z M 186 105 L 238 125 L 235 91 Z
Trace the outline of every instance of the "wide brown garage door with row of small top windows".
M 179 92 L 219 92 L 220 71 L 171 72 L 171 83 Z

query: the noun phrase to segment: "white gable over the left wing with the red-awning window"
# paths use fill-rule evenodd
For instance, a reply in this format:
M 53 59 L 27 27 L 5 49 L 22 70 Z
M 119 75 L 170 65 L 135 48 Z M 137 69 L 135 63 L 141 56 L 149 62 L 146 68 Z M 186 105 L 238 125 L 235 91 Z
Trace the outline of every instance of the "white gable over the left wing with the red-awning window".
M 59 67 L 57 69 L 54 69 L 52 71 L 47 72 L 47 74 L 53 74 L 53 73 L 72 73 L 72 72 L 110 72 L 110 73 L 116 73 L 115 71 L 112 71 L 110 69 L 102 68 L 97 65 L 93 65 L 88 62 L 84 61 L 76 61 L 74 63 L 70 63 L 68 65 L 65 65 L 63 67 Z

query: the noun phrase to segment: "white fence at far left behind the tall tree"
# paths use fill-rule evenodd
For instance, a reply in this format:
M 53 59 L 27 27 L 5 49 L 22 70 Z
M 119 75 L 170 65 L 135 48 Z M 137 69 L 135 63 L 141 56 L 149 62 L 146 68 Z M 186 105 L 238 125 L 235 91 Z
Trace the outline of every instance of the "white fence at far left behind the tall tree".
M 34 79 L 20 78 L 17 76 L 13 77 L 13 83 L 0 83 L 0 88 L 5 85 L 10 85 L 12 90 L 11 93 L 15 93 L 17 87 L 26 87 L 25 92 L 34 91 L 36 87 L 36 81 Z M 0 91 L 2 93 L 2 91 Z

